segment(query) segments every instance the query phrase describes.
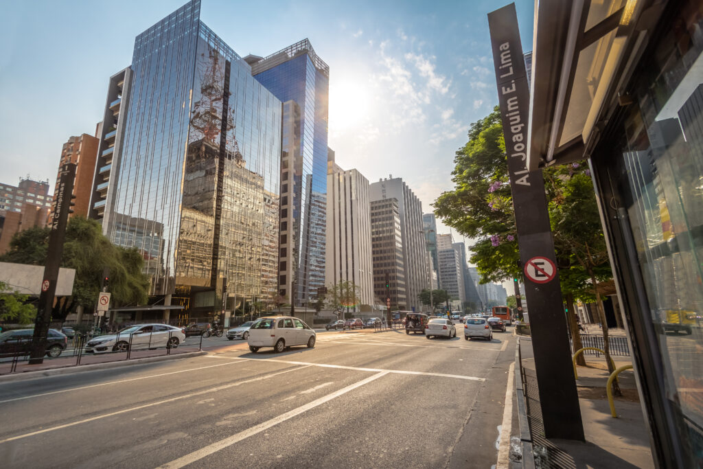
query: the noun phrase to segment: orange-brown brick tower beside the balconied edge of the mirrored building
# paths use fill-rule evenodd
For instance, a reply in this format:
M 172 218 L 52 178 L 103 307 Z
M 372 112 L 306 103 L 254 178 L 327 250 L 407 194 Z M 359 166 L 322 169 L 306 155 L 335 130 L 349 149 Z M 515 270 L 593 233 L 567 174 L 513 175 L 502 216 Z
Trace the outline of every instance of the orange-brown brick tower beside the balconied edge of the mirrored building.
M 93 176 L 95 172 L 95 161 L 98 155 L 98 143 L 96 137 L 82 134 L 72 136 L 61 148 L 61 158 L 58 163 L 58 174 L 56 176 L 56 186 L 54 186 L 53 201 L 56 201 L 56 191 L 61 176 L 61 167 L 66 163 L 76 165 L 76 177 L 73 180 L 73 195 L 76 196 L 73 202 L 73 213 L 69 217 L 88 217 L 90 212 L 91 195 L 93 193 Z M 53 218 L 53 212 L 50 215 Z

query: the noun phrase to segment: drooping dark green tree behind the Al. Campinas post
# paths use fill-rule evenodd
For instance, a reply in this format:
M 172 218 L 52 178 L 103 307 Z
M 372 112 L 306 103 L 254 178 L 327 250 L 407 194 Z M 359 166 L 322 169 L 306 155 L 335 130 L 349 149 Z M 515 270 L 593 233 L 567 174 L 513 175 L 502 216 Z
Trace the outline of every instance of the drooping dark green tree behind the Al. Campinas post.
M 28 229 L 13 236 L 3 262 L 44 265 L 49 245 L 49 229 Z M 76 270 L 70 297 L 61 298 L 52 311 L 54 321 L 82 305 L 93 309 L 100 293 L 103 268 L 110 269 L 109 291 L 113 306 L 145 304 L 149 278 L 142 273 L 144 259 L 136 249 L 112 245 L 95 220 L 72 217 L 66 227 L 61 266 Z

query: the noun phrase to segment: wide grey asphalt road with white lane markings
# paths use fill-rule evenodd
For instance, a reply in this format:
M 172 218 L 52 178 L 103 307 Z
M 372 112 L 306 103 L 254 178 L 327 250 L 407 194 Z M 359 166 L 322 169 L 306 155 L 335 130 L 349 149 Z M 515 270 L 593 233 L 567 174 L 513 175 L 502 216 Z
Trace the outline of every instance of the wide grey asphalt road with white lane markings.
M 224 339 L 193 359 L 0 383 L 0 465 L 491 468 L 511 332 L 320 333 L 282 354 Z

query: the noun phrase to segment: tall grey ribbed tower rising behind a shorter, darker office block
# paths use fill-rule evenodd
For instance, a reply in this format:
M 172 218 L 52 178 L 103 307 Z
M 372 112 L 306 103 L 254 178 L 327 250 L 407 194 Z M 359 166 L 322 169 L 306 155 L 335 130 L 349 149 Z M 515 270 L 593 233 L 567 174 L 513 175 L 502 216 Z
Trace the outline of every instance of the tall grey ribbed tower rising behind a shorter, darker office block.
M 370 199 L 398 201 L 408 309 L 420 311 L 420 292 L 430 287 L 423 231 L 423 204 L 401 178 L 381 179 L 369 186 Z

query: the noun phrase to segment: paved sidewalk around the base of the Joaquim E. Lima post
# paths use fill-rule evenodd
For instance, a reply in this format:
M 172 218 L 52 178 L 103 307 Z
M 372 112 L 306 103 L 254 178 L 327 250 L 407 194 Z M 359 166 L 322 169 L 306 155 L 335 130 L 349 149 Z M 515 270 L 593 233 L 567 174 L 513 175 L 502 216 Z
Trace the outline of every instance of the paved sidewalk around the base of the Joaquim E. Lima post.
M 654 468 L 647 425 L 642 415 L 631 370 L 619 375 L 623 397 L 615 398 L 618 418 L 610 416 L 605 384 L 605 359 L 586 356 L 576 381 L 586 442 L 544 437 L 534 354 L 530 338 L 520 338 L 525 392 L 537 468 Z M 627 356 L 614 356 L 616 366 L 630 364 Z

